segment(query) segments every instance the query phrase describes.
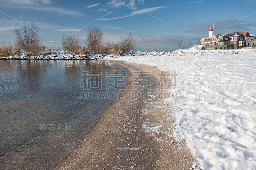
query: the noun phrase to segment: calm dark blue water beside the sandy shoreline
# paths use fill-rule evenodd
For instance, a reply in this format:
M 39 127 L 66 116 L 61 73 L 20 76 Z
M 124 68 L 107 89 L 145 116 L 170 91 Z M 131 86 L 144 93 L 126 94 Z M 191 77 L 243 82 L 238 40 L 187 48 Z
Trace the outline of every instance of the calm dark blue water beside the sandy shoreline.
M 107 61 L 0 61 L 0 169 L 51 169 L 77 148 L 114 102 L 80 99 L 92 70 L 102 72 L 93 92 L 119 92 L 105 89 L 106 72 L 128 73 Z

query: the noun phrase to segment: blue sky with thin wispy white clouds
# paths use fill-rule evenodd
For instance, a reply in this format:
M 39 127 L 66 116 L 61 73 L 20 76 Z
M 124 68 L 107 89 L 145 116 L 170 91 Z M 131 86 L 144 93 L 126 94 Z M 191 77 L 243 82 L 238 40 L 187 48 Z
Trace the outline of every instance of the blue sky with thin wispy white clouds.
M 73 32 L 85 45 L 88 28 L 98 26 L 103 44 L 117 43 L 132 32 L 139 51 L 187 49 L 214 33 L 256 34 L 255 0 L 0 0 L 0 42 L 15 42 L 13 29 L 34 22 L 45 45 L 60 47 Z

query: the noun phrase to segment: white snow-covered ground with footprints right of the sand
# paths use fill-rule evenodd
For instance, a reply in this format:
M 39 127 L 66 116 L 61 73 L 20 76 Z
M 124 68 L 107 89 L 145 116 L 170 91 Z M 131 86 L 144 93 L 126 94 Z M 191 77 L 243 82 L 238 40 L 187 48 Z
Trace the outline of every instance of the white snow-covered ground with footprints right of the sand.
M 178 99 L 165 100 L 175 118 L 173 135 L 187 140 L 202 169 L 255 169 L 255 49 L 144 52 L 113 59 L 176 71 L 177 86 L 170 91 Z

